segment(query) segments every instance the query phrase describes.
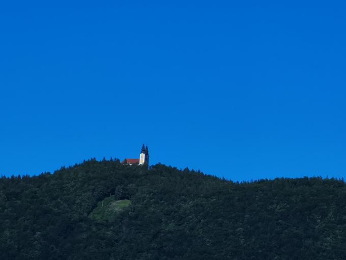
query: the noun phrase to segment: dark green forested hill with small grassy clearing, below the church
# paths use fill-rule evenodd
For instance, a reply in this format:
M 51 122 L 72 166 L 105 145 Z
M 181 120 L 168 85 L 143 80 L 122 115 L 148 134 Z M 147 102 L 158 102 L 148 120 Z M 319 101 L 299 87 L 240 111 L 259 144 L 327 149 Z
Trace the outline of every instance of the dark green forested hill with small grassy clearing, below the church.
M 345 259 L 346 185 L 89 160 L 0 179 L 0 259 Z

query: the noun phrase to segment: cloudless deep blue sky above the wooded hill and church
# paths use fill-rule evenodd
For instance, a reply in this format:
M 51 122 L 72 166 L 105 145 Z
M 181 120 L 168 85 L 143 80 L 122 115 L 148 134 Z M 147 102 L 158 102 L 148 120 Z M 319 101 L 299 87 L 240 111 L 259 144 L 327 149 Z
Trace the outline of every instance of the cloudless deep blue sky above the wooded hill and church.
M 144 142 L 233 180 L 346 177 L 345 1 L 2 1 L 0 24 L 0 174 Z

